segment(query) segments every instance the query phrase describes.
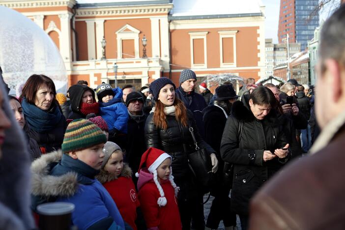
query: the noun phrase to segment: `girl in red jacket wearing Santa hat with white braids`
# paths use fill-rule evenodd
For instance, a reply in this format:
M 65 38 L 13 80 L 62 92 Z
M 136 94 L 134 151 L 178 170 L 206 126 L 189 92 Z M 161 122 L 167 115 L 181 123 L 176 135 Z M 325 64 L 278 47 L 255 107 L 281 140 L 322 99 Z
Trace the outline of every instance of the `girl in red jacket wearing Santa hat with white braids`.
M 157 148 L 144 152 L 138 173 L 138 197 L 148 230 L 181 230 L 173 182 L 172 157 Z M 143 168 L 145 166 L 145 168 Z

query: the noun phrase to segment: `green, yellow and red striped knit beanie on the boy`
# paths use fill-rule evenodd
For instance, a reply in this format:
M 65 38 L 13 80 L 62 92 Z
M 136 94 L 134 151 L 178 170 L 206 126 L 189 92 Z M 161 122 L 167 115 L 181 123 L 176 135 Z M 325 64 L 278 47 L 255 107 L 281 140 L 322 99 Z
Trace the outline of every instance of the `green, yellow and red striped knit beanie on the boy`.
M 67 126 L 62 152 L 79 151 L 106 142 L 106 135 L 97 125 L 86 119 L 76 119 Z

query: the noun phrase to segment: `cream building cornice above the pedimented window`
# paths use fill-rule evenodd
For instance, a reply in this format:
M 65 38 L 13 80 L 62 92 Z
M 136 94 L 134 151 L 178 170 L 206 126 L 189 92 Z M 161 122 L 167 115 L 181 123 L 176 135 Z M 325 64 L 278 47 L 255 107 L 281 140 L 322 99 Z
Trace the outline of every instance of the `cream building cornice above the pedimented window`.
M 173 8 L 173 4 L 161 5 L 133 5 L 107 8 L 78 8 L 77 17 L 87 16 L 113 16 L 113 15 L 135 15 L 135 14 L 168 14 Z

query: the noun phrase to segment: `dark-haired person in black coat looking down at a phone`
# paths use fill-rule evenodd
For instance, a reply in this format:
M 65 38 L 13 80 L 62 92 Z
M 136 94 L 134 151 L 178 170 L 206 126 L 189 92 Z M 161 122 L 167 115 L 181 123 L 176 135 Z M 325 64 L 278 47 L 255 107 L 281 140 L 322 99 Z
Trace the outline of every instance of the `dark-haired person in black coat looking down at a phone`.
M 277 100 L 259 86 L 233 103 L 221 141 L 221 155 L 233 165 L 231 210 L 247 229 L 248 205 L 259 187 L 287 163 L 289 144 L 276 114 Z

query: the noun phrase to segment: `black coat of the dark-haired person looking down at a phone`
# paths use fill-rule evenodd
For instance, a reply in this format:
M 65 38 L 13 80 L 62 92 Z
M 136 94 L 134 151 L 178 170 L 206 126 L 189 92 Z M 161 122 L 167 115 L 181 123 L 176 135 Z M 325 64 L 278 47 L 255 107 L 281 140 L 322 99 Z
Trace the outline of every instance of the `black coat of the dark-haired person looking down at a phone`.
M 240 142 L 238 141 L 239 121 L 243 121 Z M 287 144 L 274 110 L 263 119 L 258 120 L 248 105 L 235 102 L 232 105 L 221 142 L 221 155 L 224 161 L 234 166 L 231 191 L 231 209 L 242 215 L 248 215 L 248 205 L 259 187 L 276 173 L 288 157 L 278 157 L 264 162 L 263 151 L 282 148 Z M 279 160 L 278 160 L 279 159 Z

